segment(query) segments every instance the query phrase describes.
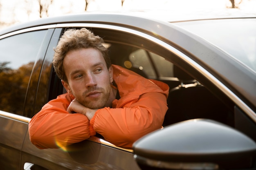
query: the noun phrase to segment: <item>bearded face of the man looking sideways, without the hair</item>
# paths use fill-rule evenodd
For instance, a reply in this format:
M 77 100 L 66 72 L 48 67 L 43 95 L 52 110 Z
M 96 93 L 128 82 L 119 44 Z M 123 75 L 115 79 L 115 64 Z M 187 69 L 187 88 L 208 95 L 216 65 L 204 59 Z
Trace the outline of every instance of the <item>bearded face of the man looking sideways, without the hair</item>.
M 63 82 L 69 94 L 90 109 L 103 108 L 109 103 L 113 82 L 102 54 L 94 48 L 69 51 L 63 60 L 67 82 Z

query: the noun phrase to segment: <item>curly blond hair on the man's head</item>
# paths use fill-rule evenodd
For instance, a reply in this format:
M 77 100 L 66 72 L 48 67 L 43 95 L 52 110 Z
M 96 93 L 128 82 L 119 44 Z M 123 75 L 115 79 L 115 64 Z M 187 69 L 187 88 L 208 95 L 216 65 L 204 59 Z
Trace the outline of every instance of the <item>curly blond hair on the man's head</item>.
M 94 35 L 88 29 L 68 29 L 61 36 L 56 48 L 54 49 L 53 66 L 57 76 L 67 82 L 67 77 L 63 68 L 63 60 L 67 52 L 81 48 L 95 48 L 99 50 L 106 62 L 107 67 L 111 66 L 108 56 L 108 49 L 103 46 L 103 39 Z

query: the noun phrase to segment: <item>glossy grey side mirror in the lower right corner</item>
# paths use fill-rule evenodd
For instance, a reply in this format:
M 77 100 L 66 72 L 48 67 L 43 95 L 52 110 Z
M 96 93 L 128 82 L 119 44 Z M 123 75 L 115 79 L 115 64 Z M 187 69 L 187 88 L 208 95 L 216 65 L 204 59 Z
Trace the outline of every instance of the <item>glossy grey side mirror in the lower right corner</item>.
M 133 150 L 142 170 L 256 166 L 256 143 L 238 130 L 209 119 L 182 121 L 152 132 L 136 141 Z

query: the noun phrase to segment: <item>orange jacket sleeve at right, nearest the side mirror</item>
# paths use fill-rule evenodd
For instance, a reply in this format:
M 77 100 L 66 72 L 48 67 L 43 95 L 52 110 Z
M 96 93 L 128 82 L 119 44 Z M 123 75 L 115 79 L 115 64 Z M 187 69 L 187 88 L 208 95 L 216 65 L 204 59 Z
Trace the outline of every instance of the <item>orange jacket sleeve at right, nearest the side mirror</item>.
M 102 108 L 91 119 L 94 130 L 107 141 L 123 148 L 144 135 L 160 129 L 167 111 L 166 95 L 163 93 L 144 93 L 123 108 Z

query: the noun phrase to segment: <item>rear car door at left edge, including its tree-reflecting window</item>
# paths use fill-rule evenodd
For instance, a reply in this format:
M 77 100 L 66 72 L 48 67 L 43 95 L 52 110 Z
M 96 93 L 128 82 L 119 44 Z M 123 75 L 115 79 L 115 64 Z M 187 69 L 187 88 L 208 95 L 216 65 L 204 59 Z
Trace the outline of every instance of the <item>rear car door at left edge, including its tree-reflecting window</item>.
M 20 169 L 21 148 L 34 106 L 41 64 L 52 31 L 24 29 L 0 36 L 0 167 Z M 29 94 L 29 95 L 28 95 Z M 30 99 L 29 99 L 30 98 Z M 29 110 L 28 112 L 33 112 Z

